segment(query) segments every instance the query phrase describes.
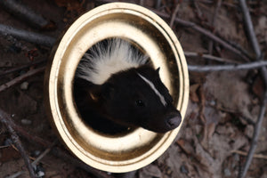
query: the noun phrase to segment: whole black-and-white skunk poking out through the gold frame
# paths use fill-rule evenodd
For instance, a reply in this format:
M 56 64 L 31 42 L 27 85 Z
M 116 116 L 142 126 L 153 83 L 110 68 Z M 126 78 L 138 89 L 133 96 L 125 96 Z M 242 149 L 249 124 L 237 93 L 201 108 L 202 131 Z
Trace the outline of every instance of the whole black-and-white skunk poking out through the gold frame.
M 85 122 L 105 134 L 139 126 L 166 133 L 181 123 L 159 68 L 120 38 L 103 40 L 85 53 L 77 66 L 74 97 Z

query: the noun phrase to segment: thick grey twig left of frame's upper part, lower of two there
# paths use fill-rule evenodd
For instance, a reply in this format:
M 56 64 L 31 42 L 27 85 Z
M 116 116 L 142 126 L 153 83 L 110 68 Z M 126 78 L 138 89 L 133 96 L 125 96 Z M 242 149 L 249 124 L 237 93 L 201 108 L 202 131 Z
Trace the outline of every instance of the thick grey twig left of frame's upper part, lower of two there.
M 55 38 L 51 36 L 44 36 L 42 34 L 38 34 L 35 32 L 23 30 L 23 29 L 12 28 L 10 26 L 6 26 L 3 24 L 0 24 L 0 35 L 14 36 L 21 40 L 25 40 L 33 44 L 45 45 L 48 47 L 52 47 L 53 44 L 55 43 Z

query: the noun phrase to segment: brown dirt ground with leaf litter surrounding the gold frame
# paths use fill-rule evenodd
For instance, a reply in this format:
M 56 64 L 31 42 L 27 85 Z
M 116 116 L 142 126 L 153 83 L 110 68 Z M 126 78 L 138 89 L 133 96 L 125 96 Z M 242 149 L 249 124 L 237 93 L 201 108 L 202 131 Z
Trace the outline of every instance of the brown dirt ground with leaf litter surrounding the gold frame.
M 61 36 L 81 14 L 89 11 L 102 1 L 69 0 L 23 0 L 35 12 L 53 21 L 53 28 L 31 28 L 27 22 L 18 20 L 0 6 L 0 24 L 38 32 L 55 38 Z M 125 1 L 156 8 L 157 1 Z M 253 53 L 244 30 L 242 13 L 236 0 L 223 0 L 216 9 L 217 1 L 209 0 L 165 0 L 158 10 L 170 15 L 178 6 L 177 17 L 195 22 L 202 28 L 213 31 L 231 44 L 238 44 L 248 53 Z M 267 2 L 265 0 L 247 1 L 255 26 L 255 33 L 263 52 L 267 51 Z M 215 14 L 215 15 L 214 15 Z M 214 22 L 212 22 L 214 19 Z M 166 19 L 169 24 L 170 19 Z M 220 44 L 210 40 L 191 28 L 184 28 L 174 23 L 175 34 L 182 44 L 184 52 L 211 53 L 214 56 L 246 62 L 231 53 Z M 0 36 L 0 85 L 14 77 L 26 73 L 28 68 L 1 76 L 1 72 L 28 64 L 33 61 L 48 59 L 51 48 L 17 40 L 12 36 Z M 218 65 L 224 62 L 206 61 L 201 57 L 187 57 L 189 64 Z M 39 64 L 44 65 L 44 64 Z M 33 65 L 35 69 L 39 65 Z M 37 135 L 53 142 L 53 134 L 44 110 L 43 83 L 44 74 L 38 74 L 19 85 L 0 93 L 0 108 L 12 116 L 29 134 Z M 244 165 L 254 127 L 260 109 L 263 82 L 258 70 L 220 71 L 197 73 L 190 72 L 190 102 L 182 125 L 180 136 L 166 152 L 149 166 L 140 169 L 135 177 L 139 178 L 231 178 L 237 177 Z M 248 120 L 248 121 L 247 121 Z M 20 135 L 20 134 L 19 134 Z M 22 144 L 31 158 L 44 151 L 41 145 L 28 142 L 20 137 Z M 60 147 L 61 144 L 57 143 Z M 248 177 L 267 178 L 267 117 L 264 117 L 261 133 L 254 158 L 247 172 Z M 12 146 L 10 134 L 0 124 L 0 177 L 27 170 L 20 153 Z M 38 170 L 47 178 L 94 177 L 84 170 L 71 165 L 61 158 L 47 154 L 38 164 Z M 28 173 L 19 177 L 28 177 Z

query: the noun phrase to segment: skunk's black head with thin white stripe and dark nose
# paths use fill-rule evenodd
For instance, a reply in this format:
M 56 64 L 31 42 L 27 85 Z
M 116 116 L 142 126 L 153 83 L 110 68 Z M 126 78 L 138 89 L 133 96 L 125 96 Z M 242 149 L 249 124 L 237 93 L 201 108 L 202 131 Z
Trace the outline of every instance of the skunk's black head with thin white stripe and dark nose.
M 148 66 L 119 72 L 101 86 L 102 109 L 118 124 L 164 133 L 181 123 L 158 70 Z

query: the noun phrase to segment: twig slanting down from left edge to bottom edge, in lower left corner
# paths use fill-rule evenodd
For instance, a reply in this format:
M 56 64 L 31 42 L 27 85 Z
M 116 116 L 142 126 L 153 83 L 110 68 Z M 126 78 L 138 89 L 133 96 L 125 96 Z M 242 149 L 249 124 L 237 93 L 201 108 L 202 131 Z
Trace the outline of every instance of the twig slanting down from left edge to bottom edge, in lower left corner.
M 28 174 L 30 177 L 35 178 L 35 172 L 33 167 L 30 165 L 28 155 L 24 150 L 22 143 L 20 142 L 20 138 L 18 134 L 15 133 L 14 129 L 12 128 L 12 118 L 4 112 L 4 110 L 0 109 L 0 121 L 5 125 L 8 132 L 11 134 L 12 142 L 16 145 L 17 149 L 20 151 L 21 157 L 24 159 L 25 165 L 28 168 Z

